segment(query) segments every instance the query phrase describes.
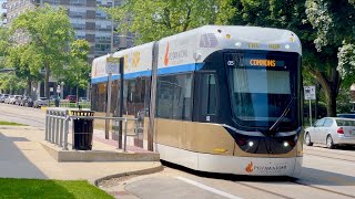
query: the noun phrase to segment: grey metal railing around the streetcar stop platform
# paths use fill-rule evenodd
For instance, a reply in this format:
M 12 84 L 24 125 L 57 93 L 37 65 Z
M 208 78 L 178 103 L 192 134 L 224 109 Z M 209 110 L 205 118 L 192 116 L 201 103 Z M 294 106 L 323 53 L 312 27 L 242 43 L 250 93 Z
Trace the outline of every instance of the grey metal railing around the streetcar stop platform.
M 123 151 L 126 151 L 126 136 L 128 136 L 128 123 L 134 122 L 134 126 L 138 128 L 139 123 L 136 118 L 128 117 L 101 117 L 101 116 L 79 116 L 71 115 L 69 109 L 61 108 L 49 108 L 45 114 L 45 136 L 44 140 L 52 143 L 59 147 L 62 147 L 63 150 L 68 149 L 68 135 L 70 122 L 73 119 L 110 119 L 115 124 L 120 121 L 123 122 Z M 72 134 L 75 134 L 72 130 Z M 74 137 L 74 136 L 73 136 Z M 118 139 L 119 142 L 119 139 Z M 74 140 L 72 140 L 74 143 Z

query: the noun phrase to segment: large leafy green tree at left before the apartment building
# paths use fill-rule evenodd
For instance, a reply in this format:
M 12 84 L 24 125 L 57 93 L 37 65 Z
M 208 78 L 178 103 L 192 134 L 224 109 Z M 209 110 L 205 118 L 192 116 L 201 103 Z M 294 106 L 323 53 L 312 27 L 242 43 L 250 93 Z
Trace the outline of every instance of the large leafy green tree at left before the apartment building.
M 23 32 L 30 36 L 29 50 L 37 57 L 31 67 L 44 67 L 44 95 L 49 97 L 49 77 L 59 77 L 69 62 L 69 43 L 73 40 L 73 29 L 67 10 L 50 6 L 39 7 L 20 14 L 11 23 L 12 33 Z M 33 60 L 33 59 L 31 59 Z

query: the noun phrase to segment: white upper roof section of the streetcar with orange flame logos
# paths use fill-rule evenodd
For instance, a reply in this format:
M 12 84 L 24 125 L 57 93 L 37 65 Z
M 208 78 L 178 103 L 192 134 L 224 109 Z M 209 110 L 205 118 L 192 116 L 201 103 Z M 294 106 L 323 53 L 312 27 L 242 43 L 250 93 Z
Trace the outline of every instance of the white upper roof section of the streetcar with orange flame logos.
M 211 53 L 225 49 L 302 54 L 301 42 L 295 33 L 260 27 L 205 25 L 163 38 L 158 45 L 158 69 L 163 72 L 181 65 L 192 69 L 195 64 L 203 63 Z M 153 46 L 154 42 L 151 42 L 95 59 L 92 64 L 92 78 L 101 77 L 98 82 L 102 82 L 103 77 L 108 76 L 105 65 L 109 56 L 124 57 L 124 74 L 128 74 L 128 78 L 150 75 Z

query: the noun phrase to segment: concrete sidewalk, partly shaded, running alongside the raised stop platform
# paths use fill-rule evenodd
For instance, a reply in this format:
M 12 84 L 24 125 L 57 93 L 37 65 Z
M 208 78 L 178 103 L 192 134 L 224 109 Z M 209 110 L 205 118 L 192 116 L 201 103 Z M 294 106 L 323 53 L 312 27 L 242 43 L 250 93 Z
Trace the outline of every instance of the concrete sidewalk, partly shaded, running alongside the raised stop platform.
M 58 163 L 42 144 L 44 130 L 37 127 L 0 126 L 0 177 L 37 179 L 98 179 L 149 174 L 162 169 L 160 161 Z M 103 147 L 106 146 L 101 143 Z

